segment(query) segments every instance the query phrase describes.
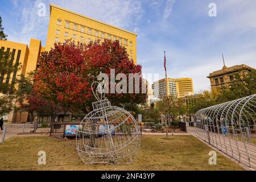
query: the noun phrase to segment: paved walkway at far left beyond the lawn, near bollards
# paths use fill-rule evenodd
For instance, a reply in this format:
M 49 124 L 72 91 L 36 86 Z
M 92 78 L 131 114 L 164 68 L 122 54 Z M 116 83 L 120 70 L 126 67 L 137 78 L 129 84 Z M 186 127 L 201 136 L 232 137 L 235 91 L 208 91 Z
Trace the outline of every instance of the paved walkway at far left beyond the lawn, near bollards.
M 49 135 L 49 128 L 39 128 L 36 130 L 36 133 L 30 133 L 30 131 L 33 130 L 33 128 L 31 126 L 26 126 L 24 128 L 24 133 L 22 133 L 23 124 L 4 123 L 3 127 L 11 126 L 11 125 L 19 126 L 19 127 L 7 127 L 5 139 L 11 138 L 11 137 L 30 137 L 30 136 Z M 26 124 L 26 125 L 29 125 L 29 124 Z M 3 130 L 0 130 L 1 139 L 2 139 L 2 134 L 3 134 Z

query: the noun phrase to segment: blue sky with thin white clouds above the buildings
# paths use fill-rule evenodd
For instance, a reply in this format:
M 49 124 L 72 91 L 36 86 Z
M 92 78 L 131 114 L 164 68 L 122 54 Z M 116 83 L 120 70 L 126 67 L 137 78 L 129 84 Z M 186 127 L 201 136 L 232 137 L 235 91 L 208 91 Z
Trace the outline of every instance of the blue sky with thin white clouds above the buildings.
M 223 67 L 222 53 L 228 67 L 256 68 L 255 0 L 0 1 L 10 41 L 29 44 L 35 38 L 45 46 L 52 3 L 137 33 L 137 64 L 146 75 L 164 78 L 166 51 L 168 77 L 193 78 L 195 93 L 210 90 L 207 76 Z M 46 16 L 38 15 L 42 3 Z M 209 16 L 210 3 L 216 4 L 217 16 Z

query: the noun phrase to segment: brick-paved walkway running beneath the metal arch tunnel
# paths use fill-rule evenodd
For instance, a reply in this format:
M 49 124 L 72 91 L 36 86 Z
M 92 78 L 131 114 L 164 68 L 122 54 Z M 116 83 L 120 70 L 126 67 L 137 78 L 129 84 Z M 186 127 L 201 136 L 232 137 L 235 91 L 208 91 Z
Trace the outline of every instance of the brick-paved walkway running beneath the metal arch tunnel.
M 225 135 L 210 131 L 207 133 L 205 130 L 197 127 L 188 127 L 187 131 L 188 133 L 194 134 L 203 139 L 205 142 L 218 148 L 218 150 L 224 152 L 246 166 L 256 169 L 255 144 L 241 142 L 236 139 L 226 137 Z

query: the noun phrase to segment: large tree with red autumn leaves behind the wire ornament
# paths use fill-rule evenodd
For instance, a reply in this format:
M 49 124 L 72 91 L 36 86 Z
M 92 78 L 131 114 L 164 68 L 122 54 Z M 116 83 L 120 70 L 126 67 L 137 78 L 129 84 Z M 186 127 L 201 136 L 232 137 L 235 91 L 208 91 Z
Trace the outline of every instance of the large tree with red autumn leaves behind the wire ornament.
M 142 73 L 141 65 L 129 60 L 126 48 L 118 41 L 91 42 L 82 44 L 71 42 L 55 44 L 49 52 L 42 53 L 39 68 L 35 73 L 34 92 L 44 100 L 63 106 L 69 111 L 88 111 L 95 101 L 90 85 L 97 81 L 100 73 L 110 76 L 115 73 Z M 140 80 L 142 83 L 142 78 Z M 128 88 L 128 86 L 127 86 Z M 147 94 L 107 94 L 113 105 L 144 104 Z

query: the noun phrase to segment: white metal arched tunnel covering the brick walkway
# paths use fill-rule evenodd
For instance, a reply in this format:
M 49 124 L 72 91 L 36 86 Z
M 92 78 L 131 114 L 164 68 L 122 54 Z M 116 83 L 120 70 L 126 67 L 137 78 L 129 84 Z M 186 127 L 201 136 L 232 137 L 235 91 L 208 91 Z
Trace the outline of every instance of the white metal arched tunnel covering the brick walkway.
M 256 94 L 197 111 L 191 134 L 256 169 Z

